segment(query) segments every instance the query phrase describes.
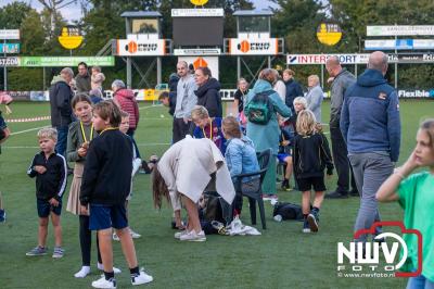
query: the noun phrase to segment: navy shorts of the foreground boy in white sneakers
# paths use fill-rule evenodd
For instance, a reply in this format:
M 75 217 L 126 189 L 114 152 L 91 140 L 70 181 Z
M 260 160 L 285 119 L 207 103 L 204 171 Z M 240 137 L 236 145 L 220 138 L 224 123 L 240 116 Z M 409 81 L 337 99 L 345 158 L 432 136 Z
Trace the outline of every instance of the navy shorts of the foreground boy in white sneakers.
M 89 211 L 90 230 L 103 230 L 112 227 L 115 229 L 123 229 L 128 227 L 125 204 L 90 204 Z

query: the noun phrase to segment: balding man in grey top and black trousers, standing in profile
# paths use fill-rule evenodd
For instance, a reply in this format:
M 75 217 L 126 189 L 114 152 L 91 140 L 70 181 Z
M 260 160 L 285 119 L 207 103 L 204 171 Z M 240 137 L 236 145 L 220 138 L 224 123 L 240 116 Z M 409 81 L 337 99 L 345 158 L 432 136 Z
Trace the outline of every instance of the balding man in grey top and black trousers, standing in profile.
M 326 70 L 329 72 L 330 77 L 333 78 L 330 103 L 330 139 L 332 141 L 333 162 L 337 172 L 337 188 L 335 191 L 326 194 L 326 198 L 341 199 L 348 197 L 349 173 L 352 173 L 352 190 L 349 194 L 359 196 L 353 169 L 350 169 L 349 165 L 348 151 L 340 127 L 344 95 L 346 89 L 356 83 L 356 77 L 341 66 L 337 56 L 331 56 L 327 60 Z

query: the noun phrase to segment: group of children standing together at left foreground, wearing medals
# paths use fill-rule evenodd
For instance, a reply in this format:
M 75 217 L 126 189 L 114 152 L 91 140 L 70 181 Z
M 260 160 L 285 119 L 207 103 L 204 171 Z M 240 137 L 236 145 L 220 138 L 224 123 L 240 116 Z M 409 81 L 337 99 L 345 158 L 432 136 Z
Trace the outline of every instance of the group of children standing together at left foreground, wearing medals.
M 128 227 L 127 203 L 131 197 L 131 178 L 141 165 L 137 146 L 125 131 L 129 115 L 113 101 L 103 101 L 92 108 L 90 98 L 85 95 L 76 96 L 72 105 L 78 120 L 68 131 L 67 160 L 75 162 L 75 168 L 66 210 L 79 216 L 82 257 L 82 267 L 75 277 L 82 278 L 90 273 L 91 231 L 97 230 L 98 268 L 103 271 L 104 276 L 93 281 L 92 286 L 116 288 L 114 274 L 120 271 L 113 266 L 114 228 L 130 268 L 131 284 L 150 282 L 152 276 L 139 269 L 132 242 L 135 233 Z M 38 131 L 41 151 L 35 155 L 27 172 L 30 177 L 36 177 L 39 216 L 38 246 L 27 255 L 47 254 L 49 216 L 55 237 L 52 256 L 62 257 L 64 254 L 60 216 L 67 172 L 65 158 L 54 151 L 56 140 L 54 128 Z

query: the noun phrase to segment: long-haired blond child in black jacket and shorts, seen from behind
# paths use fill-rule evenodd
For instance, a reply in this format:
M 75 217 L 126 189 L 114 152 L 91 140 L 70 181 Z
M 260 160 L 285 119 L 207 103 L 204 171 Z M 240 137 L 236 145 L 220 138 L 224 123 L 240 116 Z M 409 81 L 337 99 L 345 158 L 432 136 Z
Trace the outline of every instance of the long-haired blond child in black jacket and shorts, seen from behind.
M 324 199 L 324 168 L 333 174 L 329 142 L 320 131 L 315 115 L 309 110 L 298 113 L 294 139 L 294 175 L 303 192 L 303 233 L 318 231 L 319 210 Z M 310 189 L 314 187 L 314 209 L 310 211 Z

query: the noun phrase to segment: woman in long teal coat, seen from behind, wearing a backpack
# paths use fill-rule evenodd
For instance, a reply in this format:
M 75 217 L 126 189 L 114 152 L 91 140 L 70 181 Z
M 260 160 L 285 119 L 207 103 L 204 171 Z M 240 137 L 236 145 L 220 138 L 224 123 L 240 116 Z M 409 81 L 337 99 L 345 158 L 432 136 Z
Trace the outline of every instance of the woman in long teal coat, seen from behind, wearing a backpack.
M 259 74 L 259 79 L 256 81 L 253 89 L 247 95 L 245 108 L 248 102 L 253 99 L 256 93 L 272 90 L 272 85 L 278 79 L 278 72 L 271 68 L 265 68 Z M 290 108 L 285 105 L 282 99 L 277 92 L 268 96 L 273 106 L 273 113 L 271 114 L 270 121 L 266 125 L 254 124 L 247 122 L 247 137 L 253 140 L 256 152 L 260 152 L 267 149 L 272 150 L 273 158 L 270 159 L 267 174 L 265 175 L 263 183 L 263 193 L 265 199 L 277 200 L 276 194 L 276 156 L 279 150 L 279 136 L 280 128 L 278 123 L 279 113 L 283 117 L 290 117 L 292 115 Z M 248 115 L 248 111 L 245 111 L 245 115 Z

